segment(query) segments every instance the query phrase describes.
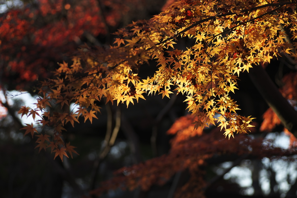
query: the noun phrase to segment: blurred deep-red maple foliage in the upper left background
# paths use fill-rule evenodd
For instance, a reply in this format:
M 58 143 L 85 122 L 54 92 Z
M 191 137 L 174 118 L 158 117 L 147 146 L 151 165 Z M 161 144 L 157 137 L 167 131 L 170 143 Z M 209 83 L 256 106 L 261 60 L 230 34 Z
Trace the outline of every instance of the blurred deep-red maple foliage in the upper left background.
M 48 71 L 67 53 L 71 55 L 83 43 L 81 39 L 109 34 L 130 4 L 137 6 L 133 0 L 102 1 L 102 5 L 96 0 L 41 0 L 32 7 L 10 10 L 1 16 L 0 26 L 3 81 L 28 89 L 28 84 L 49 77 Z

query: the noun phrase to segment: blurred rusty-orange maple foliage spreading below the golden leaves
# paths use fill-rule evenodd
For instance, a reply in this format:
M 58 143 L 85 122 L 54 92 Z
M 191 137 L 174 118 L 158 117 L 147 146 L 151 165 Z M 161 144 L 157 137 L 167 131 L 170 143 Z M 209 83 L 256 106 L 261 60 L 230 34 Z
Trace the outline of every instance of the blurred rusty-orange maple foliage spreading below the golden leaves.
M 177 172 L 189 171 L 190 178 L 175 197 L 204 196 L 204 191 L 211 185 L 206 182 L 203 170 L 208 160 L 219 155 L 236 155 L 244 158 L 263 157 L 275 158 L 275 156 L 293 155 L 296 150 L 284 151 L 280 148 L 269 146 L 263 142 L 263 138 L 250 138 L 244 134 L 236 135 L 234 139 L 222 137 L 219 128 L 205 133 L 201 129 L 193 130 L 194 117 L 187 115 L 176 120 L 167 131 L 168 134 L 176 134 L 171 141 L 171 150 L 167 155 L 147 160 L 143 164 L 131 167 L 123 167 L 114 172 L 114 178 L 104 181 L 100 187 L 91 194 L 101 195 L 107 189 L 128 188 L 134 190 L 140 187 L 148 190 L 152 185 L 164 185 Z M 183 139 L 183 140 L 182 140 Z M 261 151 L 261 152 L 259 152 Z

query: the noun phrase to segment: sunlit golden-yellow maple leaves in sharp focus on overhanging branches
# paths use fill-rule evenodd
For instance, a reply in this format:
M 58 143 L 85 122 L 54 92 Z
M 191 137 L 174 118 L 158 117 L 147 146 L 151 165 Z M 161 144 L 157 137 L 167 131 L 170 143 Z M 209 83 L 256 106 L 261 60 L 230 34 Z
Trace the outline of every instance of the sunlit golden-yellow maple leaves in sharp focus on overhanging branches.
M 42 82 L 35 109 L 19 111 L 38 117 L 37 123 L 53 131 L 53 138 L 40 138 L 40 149 L 51 147 L 56 156 L 72 156 L 69 144 L 61 139 L 64 124 L 96 117 L 96 101 L 126 103 L 143 93 L 169 94 L 176 90 L 187 97 L 188 110 L 196 117 L 195 128 L 217 120 L 225 136 L 246 133 L 252 118 L 236 113 L 238 105 L 229 93 L 236 89 L 240 72 L 252 64 L 270 62 L 271 58 L 296 58 L 296 43 L 289 42 L 284 28 L 296 41 L 296 1 L 264 0 L 181 0 L 148 21 L 133 22 L 115 34 L 113 46 L 96 50 L 82 46 L 69 66 L 61 63 L 55 78 Z M 186 48 L 178 40 L 188 37 Z M 158 69 L 147 79 L 138 77 L 138 68 L 149 60 Z M 53 112 L 50 104 L 61 109 L 71 102 L 76 112 Z M 41 111 L 39 115 L 34 112 Z M 220 115 L 218 118 L 216 115 Z M 26 133 L 34 135 L 27 124 Z M 46 131 L 46 130 L 45 130 Z M 47 146 L 44 145 L 46 142 Z M 67 150 L 68 149 L 68 150 Z

